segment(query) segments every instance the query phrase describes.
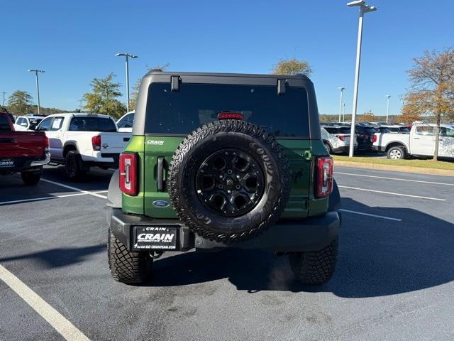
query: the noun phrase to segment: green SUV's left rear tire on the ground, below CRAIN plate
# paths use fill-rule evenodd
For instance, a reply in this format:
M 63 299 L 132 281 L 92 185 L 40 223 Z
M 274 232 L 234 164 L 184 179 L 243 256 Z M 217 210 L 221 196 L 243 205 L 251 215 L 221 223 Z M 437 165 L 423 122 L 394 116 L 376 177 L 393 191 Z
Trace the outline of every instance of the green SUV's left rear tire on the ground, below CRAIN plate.
M 109 269 L 116 281 L 140 284 L 148 281 L 153 268 L 153 258 L 148 252 L 129 252 L 109 228 L 107 239 Z

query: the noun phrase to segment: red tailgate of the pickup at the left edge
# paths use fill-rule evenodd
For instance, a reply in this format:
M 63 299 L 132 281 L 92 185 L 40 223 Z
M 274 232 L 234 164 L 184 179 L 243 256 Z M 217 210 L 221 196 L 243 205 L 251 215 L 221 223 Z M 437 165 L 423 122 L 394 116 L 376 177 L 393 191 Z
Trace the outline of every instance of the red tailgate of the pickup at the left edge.
M 44 156 L 45 134 L 42 131 L 11 131 L 0 134 L 0 158 Z

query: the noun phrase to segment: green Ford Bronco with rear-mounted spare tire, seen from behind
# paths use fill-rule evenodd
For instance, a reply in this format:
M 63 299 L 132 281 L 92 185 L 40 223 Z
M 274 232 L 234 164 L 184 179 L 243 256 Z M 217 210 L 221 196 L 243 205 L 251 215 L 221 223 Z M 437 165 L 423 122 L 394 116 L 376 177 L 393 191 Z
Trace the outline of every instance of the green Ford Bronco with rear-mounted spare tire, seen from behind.
M 265 249 L 302 283 L 336 266 L 341 207 L 304 75 L 149 72 L 109 185 L 111 274 L 143 283 L 153 259 Z

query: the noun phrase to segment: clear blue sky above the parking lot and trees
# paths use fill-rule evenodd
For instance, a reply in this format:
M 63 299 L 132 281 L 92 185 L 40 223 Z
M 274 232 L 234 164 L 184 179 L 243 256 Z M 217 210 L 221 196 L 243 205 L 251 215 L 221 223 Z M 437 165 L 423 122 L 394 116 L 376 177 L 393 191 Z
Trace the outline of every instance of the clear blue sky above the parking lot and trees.
M 43 107 L 75 109 L 93 77 L 114 72 L 131 83 L 153 67 L 169 70 L 267 73 L 281 58 L 309 61 L 321 114 L 337 114 L 344 86 L 351 112 L 358 9 L 347 1 L 3 1 L 0 92 L 26 90 L 30 68 L 40 76 Z M 390 114 L 401 107 L 405 70 L 423 50 L 454 45 L 454 1 L 370 0 L 362 45 L 358 112 Z M 124 87 L 122 88 L 123 94 Z M 1 96 L 1 93 L 0 93 Z M 1 99 L 1 97 L 0 97 Z

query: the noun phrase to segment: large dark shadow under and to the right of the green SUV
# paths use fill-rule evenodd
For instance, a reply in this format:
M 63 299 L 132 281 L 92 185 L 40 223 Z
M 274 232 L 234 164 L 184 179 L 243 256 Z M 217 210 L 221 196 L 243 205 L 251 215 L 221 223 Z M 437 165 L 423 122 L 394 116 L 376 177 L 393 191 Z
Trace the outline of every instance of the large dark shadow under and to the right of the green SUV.
M 397 217 L 394 222 L 343 213 L 336 272 L 322 286 L 294 280 L 287 257 L 228 249 L 155 261 L 148 286 L 183 286 L 228 278 L 238 290 L 332 292 L 345 298 L 387 296 L 454 280 L 454 224 L 418 210 L 369 207 L 349 198 L 343 207 Z

